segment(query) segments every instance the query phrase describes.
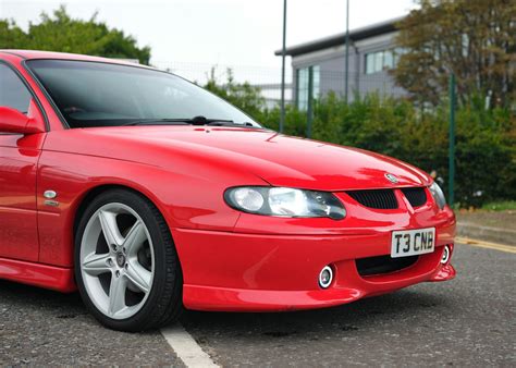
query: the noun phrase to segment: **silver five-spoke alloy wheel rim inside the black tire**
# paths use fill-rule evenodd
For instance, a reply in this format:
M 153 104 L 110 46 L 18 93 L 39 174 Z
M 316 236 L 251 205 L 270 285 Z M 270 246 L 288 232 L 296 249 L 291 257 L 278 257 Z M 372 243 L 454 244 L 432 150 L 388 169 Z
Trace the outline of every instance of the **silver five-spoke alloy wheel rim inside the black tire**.
M 81 274 L 89 299 L 103 315 L 121 320 L 145 305 L 155 274 L 149 231 L 131 207 L 99 208 L 81 241 Z

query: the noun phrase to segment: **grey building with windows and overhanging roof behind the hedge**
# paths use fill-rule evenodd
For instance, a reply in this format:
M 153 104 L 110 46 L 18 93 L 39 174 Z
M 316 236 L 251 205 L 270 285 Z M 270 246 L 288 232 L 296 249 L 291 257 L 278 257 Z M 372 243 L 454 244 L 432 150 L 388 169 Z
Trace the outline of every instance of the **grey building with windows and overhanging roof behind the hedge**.
M 391 20 L 349 32 L 349 100 L 356 94 L 405 94 L 389 74 L 403 52 L 395 46 L 397 21 L 400 20 Z M 293 99 L 299 109 L 308 107 L 310 96 L 317 99 L 331 90 L 344 96 L 345 39 L 346 35 L 343 33 L 286 49 L 286 54 L 292 57 Z M 282 50 L 275 54 L 281 56 Z

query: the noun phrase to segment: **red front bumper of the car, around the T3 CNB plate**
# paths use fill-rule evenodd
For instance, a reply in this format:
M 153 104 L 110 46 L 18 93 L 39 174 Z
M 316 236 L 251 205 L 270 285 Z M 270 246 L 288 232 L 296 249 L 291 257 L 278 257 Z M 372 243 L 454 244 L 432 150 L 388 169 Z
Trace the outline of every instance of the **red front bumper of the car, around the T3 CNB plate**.
M 186 308 L 226 311 L 279 311 L 322 308 L 389 293 L 426 281 L 455 277 L 442 265 L 444 245 L 453 252 L 455 219 L 435 225 L 435 252 L 400 271 L 361 277 L 356 259 L 390 255 L 391 231 L 368 234 L 278 235 L 173 229 Z M 331 265 L 329 289 L 318 284 Z

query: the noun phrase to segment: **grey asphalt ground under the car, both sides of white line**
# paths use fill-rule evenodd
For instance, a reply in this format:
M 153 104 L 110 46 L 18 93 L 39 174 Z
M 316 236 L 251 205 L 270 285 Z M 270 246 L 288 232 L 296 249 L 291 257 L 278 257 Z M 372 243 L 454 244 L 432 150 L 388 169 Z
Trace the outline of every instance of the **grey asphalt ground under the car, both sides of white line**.
M 221 366 L 516 366 L 516 254 L 457 245 L 457 278 L 330 309 L 188 311 Z M 107 330 L 77 294 L 0 281 L 0 366 L 181 366 L 159 331 Z

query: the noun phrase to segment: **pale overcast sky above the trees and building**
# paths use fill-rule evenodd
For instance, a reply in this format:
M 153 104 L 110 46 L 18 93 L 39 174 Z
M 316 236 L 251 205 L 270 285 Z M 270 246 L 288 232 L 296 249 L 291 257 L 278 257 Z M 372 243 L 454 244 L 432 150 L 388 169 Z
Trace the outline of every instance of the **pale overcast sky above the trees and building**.
M 99 20 L 150 46 L 155 62 L 278 68 L 282 0 L 0 0 L 0 17 L 26 28 L 41 11 L 65 4 L 74 17 Z M 351 0 L 349 27 L 404 15 L 413 0 Z M 287 45 L 345 29 L 345 0 L 288 0 Z

